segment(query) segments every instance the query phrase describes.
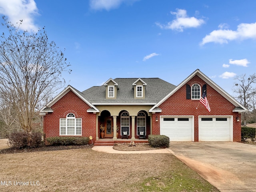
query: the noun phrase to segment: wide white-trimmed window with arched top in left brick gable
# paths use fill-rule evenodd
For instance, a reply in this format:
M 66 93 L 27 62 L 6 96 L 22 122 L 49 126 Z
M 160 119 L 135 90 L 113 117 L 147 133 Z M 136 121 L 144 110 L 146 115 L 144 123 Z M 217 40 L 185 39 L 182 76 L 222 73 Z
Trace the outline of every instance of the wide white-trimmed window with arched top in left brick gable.
M 82 119 L 76 118 L 73 113 L 60 118 L 60 135 L 82 135 Z

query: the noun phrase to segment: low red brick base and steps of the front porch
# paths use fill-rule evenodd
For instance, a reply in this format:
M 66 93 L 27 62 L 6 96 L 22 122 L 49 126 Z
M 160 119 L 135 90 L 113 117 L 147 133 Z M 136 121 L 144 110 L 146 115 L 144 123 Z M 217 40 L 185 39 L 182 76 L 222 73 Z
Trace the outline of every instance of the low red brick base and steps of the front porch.
M 120 139 L 118 138 L 117 140 L 113 140 L 112 138 L 104 138 L 104 139 L 99 139 L 94 142 L 94 146 L 114 146 L 114 144 L 118 143 L 130 143 L 131 141 L 134 141 L 134 143 L 147 143 L 148 139 Z

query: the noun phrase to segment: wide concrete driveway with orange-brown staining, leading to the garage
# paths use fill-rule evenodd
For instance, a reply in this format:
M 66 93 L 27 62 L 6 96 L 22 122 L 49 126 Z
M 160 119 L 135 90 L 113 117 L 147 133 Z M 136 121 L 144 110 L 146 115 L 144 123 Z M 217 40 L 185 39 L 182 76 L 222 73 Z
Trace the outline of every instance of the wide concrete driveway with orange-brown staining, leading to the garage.
M 221 192 L 256 192 L 256 146 L 170 142 L 171 152 Z

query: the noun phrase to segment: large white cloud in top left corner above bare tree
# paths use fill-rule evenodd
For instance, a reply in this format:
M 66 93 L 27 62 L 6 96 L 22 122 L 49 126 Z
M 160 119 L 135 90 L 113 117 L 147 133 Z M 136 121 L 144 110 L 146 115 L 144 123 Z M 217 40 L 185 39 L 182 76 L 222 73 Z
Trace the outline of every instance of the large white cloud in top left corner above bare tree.
M 5 15 L 12 24 L 22 20 L 19 29 L 37 31 L 34 24 L 34 16 L 38 15 L 38 9 L 34 0 L 0 0 L 0 14 Z

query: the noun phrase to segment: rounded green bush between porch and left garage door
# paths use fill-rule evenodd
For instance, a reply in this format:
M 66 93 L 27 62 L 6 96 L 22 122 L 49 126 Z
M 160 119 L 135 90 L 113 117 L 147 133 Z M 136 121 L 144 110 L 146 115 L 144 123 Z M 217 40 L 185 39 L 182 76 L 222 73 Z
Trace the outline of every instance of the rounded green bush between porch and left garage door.
M 170 138 L 165 135 L 149 135 L 148 142 L 152 147 L 168 148 L 170 146 Z

